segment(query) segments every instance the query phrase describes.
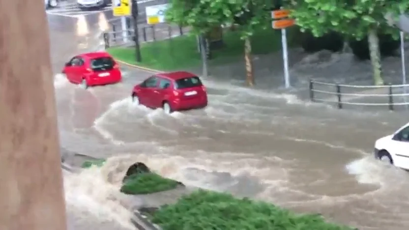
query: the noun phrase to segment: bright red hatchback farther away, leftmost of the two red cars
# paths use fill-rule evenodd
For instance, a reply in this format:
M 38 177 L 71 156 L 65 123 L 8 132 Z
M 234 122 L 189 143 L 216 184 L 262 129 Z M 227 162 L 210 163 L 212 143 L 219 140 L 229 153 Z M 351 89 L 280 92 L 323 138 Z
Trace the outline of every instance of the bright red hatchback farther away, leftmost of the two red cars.
M 68 81 L 88 86 L 115 84 L 122 80 L 119 65 L 106 52 L 93 52 L 75 56 L 62 70 Z

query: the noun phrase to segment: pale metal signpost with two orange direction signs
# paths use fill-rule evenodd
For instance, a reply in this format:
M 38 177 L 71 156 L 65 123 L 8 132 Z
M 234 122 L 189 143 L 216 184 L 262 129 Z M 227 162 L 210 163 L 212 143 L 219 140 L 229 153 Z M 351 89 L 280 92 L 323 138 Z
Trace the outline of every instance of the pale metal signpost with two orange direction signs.
M 273 29 L 281 29 L 281 45 L 283 47 L 283 61 L 284 61 L 284 81 L 286 88 L 290 87 L 290 75 L 288 67 L 288 45 L 287 45 L 287 31 L 286 28 L 294 25 L 295 20 L 288 18 L 289 10 L 280 9 L 271 11 L 271 18 L 275 19 L 272 22 Z

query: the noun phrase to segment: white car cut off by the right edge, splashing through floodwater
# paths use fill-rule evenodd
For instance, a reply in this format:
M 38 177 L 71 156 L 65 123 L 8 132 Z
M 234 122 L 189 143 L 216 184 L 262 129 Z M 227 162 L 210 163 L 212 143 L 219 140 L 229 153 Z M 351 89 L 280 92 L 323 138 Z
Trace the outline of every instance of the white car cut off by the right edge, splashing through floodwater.
M 375 142 L 375 158 L 409 170 L 409 123 Z

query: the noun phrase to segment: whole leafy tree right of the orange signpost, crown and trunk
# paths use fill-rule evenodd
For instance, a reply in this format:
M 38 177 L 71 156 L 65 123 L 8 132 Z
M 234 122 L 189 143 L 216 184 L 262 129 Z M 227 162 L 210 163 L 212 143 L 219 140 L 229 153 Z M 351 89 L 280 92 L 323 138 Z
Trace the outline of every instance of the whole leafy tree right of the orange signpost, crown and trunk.
M 383 85 L 378 34 L 399 35 L 385 15 L 406 12 L 409 0 L 289 0 L 287 6 L 301 30 L 315 36 L 336 31 L 347 37 L 368 40 L 375 85 Z

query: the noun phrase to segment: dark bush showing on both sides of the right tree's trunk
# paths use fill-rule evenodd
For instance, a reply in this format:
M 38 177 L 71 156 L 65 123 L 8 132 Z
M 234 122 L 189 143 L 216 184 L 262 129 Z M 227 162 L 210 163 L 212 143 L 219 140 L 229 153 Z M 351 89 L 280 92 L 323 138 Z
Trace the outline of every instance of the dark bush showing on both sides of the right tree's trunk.
M 368 37 L 364 37 L 362 40 L 350 40 L 349 45 L 352 49 L 352 53 L 355 57 L 361 60 L 369 60 L 369 46 Z M 396 50 L 400 47 L 400 41 L 394 40 L 392 35 L 379 34 L 379 48 L 380 56 L 382 58 L 393 56 Z

